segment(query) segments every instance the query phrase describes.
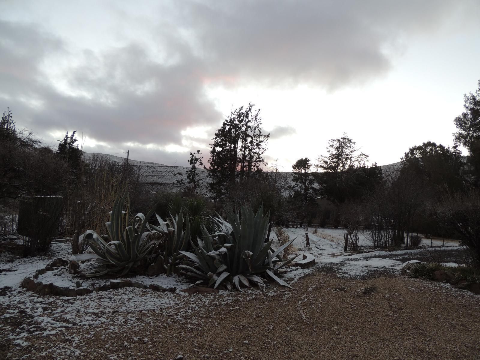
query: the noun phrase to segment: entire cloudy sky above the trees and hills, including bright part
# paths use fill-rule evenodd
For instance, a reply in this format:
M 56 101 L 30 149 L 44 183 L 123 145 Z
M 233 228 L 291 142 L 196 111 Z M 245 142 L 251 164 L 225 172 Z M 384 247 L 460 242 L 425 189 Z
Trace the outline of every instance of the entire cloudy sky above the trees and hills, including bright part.
M 287 171 L 342 132 L 388 164 L 453 144 L 479 19 L 478 0 L 2 0 L 0 108 L 47 144 L 186 166 L 252 102 Z

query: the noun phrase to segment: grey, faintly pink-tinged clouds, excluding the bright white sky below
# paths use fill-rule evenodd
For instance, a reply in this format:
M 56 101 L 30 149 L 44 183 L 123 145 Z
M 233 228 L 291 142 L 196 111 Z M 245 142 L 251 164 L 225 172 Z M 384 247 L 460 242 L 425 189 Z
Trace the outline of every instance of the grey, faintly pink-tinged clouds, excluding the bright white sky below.
M 194 148 L 207 153 L 224 118 L 208 86 L 361 86 L 385 76 L 410 37 L 478 21 L 474 1 L 55 4 L 0 5 L 1 108 L 46 142 L 78 130 L 100 143 L 86 151 L 129 148 L 168 165 L 186 165 Z

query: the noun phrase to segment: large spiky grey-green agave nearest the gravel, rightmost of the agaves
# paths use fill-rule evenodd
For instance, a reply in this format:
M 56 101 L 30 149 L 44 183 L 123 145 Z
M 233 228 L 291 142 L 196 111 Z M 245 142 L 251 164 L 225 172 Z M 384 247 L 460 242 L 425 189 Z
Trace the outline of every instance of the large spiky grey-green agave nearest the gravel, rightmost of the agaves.
M 265 243 L 270 212 L 264 215 L 263 206 L 254 214 L 251 206 L 242 206 L 240 215 L 227 212 L 228 222 L 221 216 L 214 219 L 217 232 L 213 235 L 203 228 L 204 240 L 193 244 L 194 253 L 180 252 L 191 262 L 179 265 L 185 275 L 197 277 L 197 284 L 217 288 L 220 285 L 241 291 L 241 285 L 251 283 L 264 288 L 264 278 L 269 276 L 278 284 L 291 288 L 276 276 L 276 271 L 295 258 L 280 259 L 282 252 L 295 239 L 288 241 L 278 250 L 271 248 L 272 240 Z

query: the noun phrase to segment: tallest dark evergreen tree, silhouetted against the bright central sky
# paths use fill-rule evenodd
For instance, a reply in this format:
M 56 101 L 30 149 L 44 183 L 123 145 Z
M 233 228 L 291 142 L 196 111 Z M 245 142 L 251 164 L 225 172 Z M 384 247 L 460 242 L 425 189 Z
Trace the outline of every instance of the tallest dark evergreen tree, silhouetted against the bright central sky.
M 270 134 L 262 132 L 260 109 L 253 112 L 253 104 L 231 112 L 210 144 L 210 189 L 216 199 L 228 188 L 243 185 L 253 174 L 262 171 L 264 153 Z

